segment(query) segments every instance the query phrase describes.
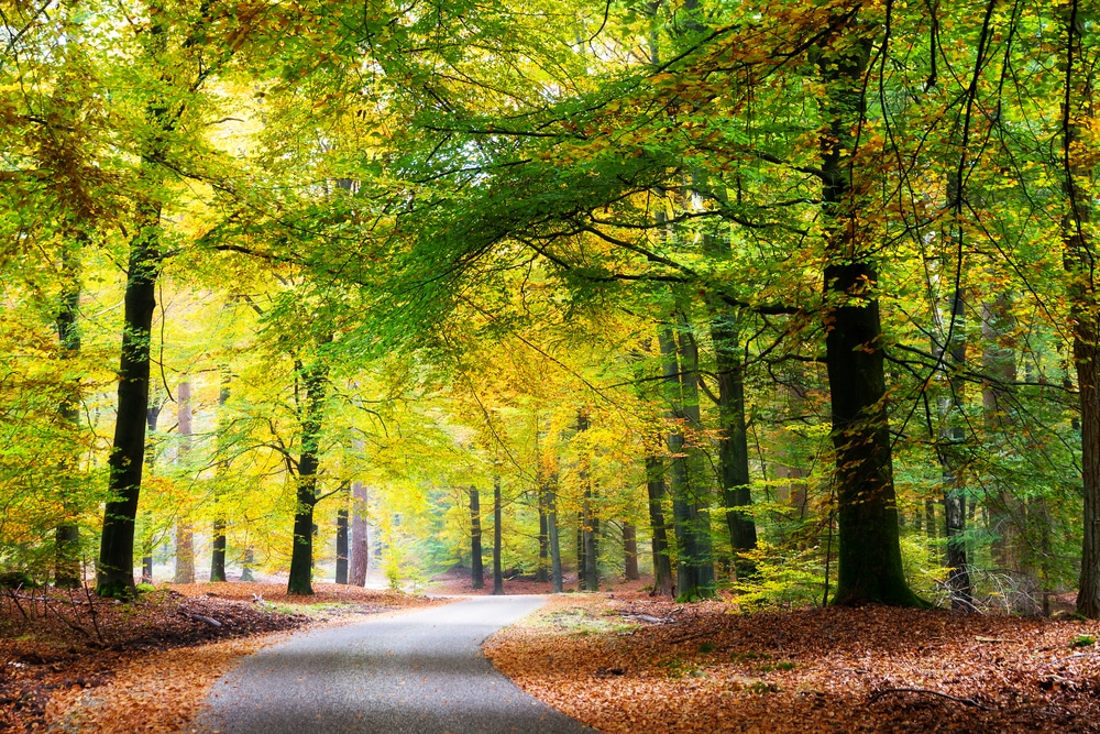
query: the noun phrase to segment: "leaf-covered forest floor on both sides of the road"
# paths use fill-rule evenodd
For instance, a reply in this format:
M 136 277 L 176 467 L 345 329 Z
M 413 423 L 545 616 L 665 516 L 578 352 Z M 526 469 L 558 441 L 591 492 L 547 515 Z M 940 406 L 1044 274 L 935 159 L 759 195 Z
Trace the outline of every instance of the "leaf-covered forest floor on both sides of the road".
M 283 589 L 170 585 L 129 605 L 0 592 L 0 731 L 189 731 L 215 680 L 289 632 L 443 603 Z M 461 574 L 428 590 L 471 593 Z M 521 580 L 505 590 L 548 591 Z M 740 614 L 729 601 L 675 604 L 634 583 L 552 596 L 485 651 L 529 693 L 608 733 L 1100 732 L 1096 639 L 1100 623 L 1072 618 L 875 606 Z

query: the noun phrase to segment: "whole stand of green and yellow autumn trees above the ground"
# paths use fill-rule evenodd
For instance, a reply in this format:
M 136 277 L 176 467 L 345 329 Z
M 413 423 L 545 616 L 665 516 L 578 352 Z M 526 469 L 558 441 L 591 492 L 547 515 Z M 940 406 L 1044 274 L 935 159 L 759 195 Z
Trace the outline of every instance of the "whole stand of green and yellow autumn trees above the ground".
M 1097 20 L 0 0 L 3 582 L 1100 618 Z

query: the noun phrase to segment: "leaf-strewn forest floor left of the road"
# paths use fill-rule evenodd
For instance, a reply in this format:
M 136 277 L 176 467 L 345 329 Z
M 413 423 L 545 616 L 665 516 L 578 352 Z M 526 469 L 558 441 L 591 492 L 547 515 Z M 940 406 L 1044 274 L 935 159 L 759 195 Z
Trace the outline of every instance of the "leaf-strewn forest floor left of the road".
M 444 603 L 315 583 L 158 587 L 123 604 L 0 590 L 0 732 L 180 732 L 241 657 L 318 625 Z

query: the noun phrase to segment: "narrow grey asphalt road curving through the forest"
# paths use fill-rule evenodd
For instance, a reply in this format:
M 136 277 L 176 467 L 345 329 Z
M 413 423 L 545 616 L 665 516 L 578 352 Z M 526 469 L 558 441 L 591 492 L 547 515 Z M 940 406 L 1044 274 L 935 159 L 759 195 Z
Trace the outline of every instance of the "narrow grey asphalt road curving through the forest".
M 522 692 L 481 654 L 539 596 L 479 596 L 298 635 L 216 684 L 200 732 L 593 734 Z

